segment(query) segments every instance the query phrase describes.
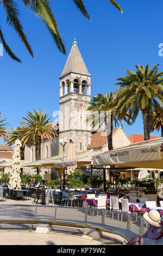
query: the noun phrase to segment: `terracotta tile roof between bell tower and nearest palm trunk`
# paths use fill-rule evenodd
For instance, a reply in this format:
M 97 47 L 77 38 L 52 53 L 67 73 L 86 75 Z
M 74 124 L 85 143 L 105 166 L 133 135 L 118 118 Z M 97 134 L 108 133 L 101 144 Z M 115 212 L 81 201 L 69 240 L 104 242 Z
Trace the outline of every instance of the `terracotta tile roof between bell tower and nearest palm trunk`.
M 113 129 L 112 134 L 114 134 L 116 130 L 117 129 Z M 89 149 L 89 148 L 102 147 L 107 140 L 108 140 L 108 136 L 106 135 L 106 131 L 95 133 L 91 136 L 91 145 L 87 148 Z

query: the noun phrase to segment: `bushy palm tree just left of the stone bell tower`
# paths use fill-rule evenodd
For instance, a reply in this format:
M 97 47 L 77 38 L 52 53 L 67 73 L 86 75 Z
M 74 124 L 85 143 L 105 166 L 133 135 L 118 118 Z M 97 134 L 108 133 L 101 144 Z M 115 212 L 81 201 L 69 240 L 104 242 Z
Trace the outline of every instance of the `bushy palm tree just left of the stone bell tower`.
M 41 113 L 41 110 L 34 112 L 28 111 L 26 117 L 23 117 L 23 122 L 20 122 L 25 129 L 21 132 L 21 138 L 24 144 L 30 139 L 34 140 L 35 143 L 35 158 L 36 160 L 41 159 L 41 143 L 46 138 L 52 144 L 55 141 L 57 132 L 53 129 L 51 120 L 45 112 Z M 39 168 L 37 168 L 37 174 Z

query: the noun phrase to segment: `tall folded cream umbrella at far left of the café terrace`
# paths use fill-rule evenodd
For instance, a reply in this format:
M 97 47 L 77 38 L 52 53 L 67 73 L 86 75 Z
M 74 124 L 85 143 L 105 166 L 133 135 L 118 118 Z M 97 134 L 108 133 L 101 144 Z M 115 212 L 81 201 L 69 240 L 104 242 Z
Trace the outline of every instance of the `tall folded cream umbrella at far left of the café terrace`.
M 9 189 L 21 189 L 21 164 L 20 164 L 20 147 L 22 146 L 21 141 L 17 139 L 14 144 L 14 153 L 11 161 L 11 172 Z

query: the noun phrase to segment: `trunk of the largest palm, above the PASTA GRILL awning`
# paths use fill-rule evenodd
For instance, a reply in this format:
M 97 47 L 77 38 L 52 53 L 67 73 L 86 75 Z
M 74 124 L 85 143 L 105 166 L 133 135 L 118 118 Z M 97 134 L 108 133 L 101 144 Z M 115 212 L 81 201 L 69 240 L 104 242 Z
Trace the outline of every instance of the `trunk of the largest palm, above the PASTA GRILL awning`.
M 143 127 L 144 127 L 144 139 L 150 140 L 150 121 L 151 115 L 149 109 L 142 110 Z

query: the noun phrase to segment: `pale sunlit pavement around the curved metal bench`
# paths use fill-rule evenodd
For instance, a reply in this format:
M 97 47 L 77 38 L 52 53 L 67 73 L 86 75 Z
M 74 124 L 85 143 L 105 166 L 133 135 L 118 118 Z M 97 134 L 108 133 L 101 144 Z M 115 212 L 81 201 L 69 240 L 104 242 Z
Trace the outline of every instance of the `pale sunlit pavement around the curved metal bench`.
M 34 205 L 31 200 L 0 201 L 1 204 Z M 51 205 L 51 204 L 48 204 Z M 123 237 L 103 232 L 99 240 L 83 239 L 84 229 L 53 226 L 47 234 L 35 233 L 36 225 L 0 224 L 0 245 L 122 245 Z

